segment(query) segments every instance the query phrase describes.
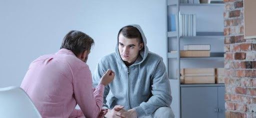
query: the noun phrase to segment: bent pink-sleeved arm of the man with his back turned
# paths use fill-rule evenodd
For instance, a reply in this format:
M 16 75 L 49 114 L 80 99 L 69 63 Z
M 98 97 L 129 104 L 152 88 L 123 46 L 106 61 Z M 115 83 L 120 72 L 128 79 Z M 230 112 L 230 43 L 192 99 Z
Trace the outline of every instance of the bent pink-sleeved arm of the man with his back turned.
M 104 85 L 98 84 L 93 92 L 91 83 L 87 65 L 73 73 L 74 97 L 85 117 L 97 117 L 102 107 Z

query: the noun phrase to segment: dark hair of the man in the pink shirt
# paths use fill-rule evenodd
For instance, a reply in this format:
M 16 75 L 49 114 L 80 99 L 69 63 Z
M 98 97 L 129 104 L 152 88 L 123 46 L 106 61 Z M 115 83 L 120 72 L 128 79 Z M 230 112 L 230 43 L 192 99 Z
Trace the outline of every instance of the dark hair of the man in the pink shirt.
M 94 41 L 89 35 L 71 30 L 63 38 L 60 48 L 69 49 L 77 56 L 85 50 L 90 50 L 93 44 Z

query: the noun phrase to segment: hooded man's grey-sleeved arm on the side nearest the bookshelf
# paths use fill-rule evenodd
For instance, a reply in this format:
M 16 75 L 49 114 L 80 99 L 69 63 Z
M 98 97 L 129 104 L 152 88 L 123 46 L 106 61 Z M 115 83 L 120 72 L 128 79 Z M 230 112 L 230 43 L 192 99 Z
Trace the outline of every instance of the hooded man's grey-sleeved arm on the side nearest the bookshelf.
M 148 101 L 142 102 L 139 106 L 134 108 L 138 117 L 149 115 L 159 107 L 169 107 L 171 103 L 172 97 L 169 80 L 162 59 L 159 60 L 154 69 L 151 87 L 152 96 Z

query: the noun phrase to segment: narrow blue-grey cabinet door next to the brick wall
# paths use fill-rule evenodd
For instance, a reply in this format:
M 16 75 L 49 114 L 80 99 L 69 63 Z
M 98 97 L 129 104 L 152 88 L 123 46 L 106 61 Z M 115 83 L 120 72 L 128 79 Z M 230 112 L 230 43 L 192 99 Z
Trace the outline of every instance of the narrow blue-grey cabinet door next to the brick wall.
M 218 87 L 218 118 L 225 117 L 225 86 Z

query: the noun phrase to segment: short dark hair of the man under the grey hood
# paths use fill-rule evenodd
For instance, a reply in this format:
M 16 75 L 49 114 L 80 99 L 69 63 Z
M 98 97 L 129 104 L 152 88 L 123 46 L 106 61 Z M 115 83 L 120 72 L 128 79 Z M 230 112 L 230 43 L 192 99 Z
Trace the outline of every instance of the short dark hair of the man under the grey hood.
M 143 43 L 139 30 L 134 26 L 127 25 L 122 27 L 118 32 L 117 39 L 120 33 L 126 38 L 136 38 L 139 43 Z

